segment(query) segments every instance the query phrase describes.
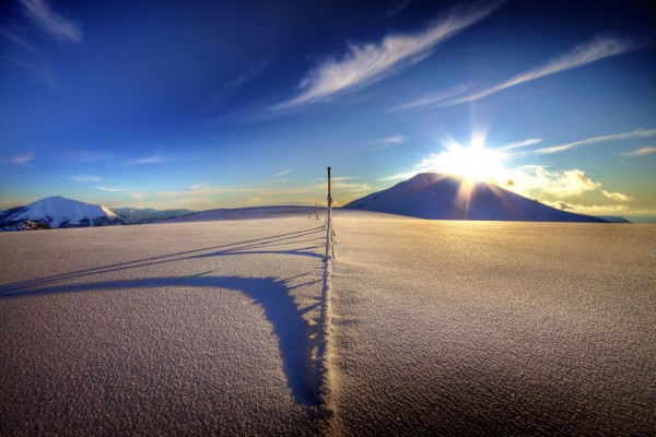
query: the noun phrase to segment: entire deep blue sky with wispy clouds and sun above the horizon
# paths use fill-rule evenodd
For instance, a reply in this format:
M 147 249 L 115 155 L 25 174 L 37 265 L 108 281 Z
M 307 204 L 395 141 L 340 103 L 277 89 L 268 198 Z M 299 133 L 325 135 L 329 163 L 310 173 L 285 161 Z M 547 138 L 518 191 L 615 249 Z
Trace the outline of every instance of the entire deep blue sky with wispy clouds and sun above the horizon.
M 3 2 L 0 208 L 314 204 L 331 165 L 656 216 L 652 2 L 352 3 Z

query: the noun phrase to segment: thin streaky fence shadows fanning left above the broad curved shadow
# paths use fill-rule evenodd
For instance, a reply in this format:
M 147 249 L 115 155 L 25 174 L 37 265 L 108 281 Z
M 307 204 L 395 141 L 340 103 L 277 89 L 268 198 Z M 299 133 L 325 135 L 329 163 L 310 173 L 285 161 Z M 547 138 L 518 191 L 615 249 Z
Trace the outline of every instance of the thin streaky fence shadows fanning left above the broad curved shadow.
M 270 237 L 256 238 L 256 239 L 244 240 L 244 241 L 238 241 L 238 243 L 231 243 L 231 244 L 226 244 L 226 245 L 207 247 L 207 248 L 202 248 L 202 249 L 186 250 L 186 251 L 181 251 L 181 252 L 163 255 L 163 256 L 159 256 L 159 257 L 143 258 L 140 260 L 134 260 L 134 261 L 119 262 L 119 263 L 115 263 L 115 264 L 108 264 L 108 265 L 103 265 L 103 267 L 97 267 L 97 268 L 92 268 L 92 269 L 78 270 L 78 271 L 73 271 L 70 273 L 56 274 L 56 275 L 39 277 L 36 280 L 16 282 L 13 284 L 7 284 L 3 286 L 0 286 L 0 297 L 7 296 L 8 294 L 12 294 L 12 292 L 14 292 L 14 291 L 33 288 L 33 287 L 43 286 L 43 285 L 49 285 L 49 284 L 58 282 L 58 281 L 66 281 L 66 280 L 72 280 L 72 279 L 77 279 L 77 277 L 84 277 L 84 276 L 89 276 L 89 275 L 93 275 L 93 274 L 98 274 L 98 273 L 109 273 L 109 272 L 116 272 L 116 271 L 121 271 L 121 270 L 136 269 L 136 268 L 148 267 L 148 265 L 155 265 L 155 264 L 161 264 L 161 263 L 166 263 L 166 262 L 174 262 L 174 261 L 181 261 L 181 260 L 186 260 L 186 259 L 200 258 L 203 256 L 200 256 L 200 255 L 195 256 L 192 253 L 200 253 L 200 252 L 208 251 L 208 250 L 223 249 L 223 250 L 213 252 L 211 256 L 237 255 L 237 253 L 246 255 L 247 252 L 244 252 L 243 250 L 260 249 L 260 248 L 269 247 L 269 246 L 282 246 L 282 245 L 291 245 L 291 244 L 297 244 L 297 243 L 304 243 L 304 241 L 318 240 L 320 238 L 303 239 L 303 240 L 297 240 L 296 238 L 320 233 L 321 229 L 324 229 L 324 226 L 313 227 L 309 229 L 303 229 L 303 231 L 297 231 L 297 232 L 293 232 L 293 233 L 273 235 Z M 304 248 L 304 249 L 307 249 L 307 248 Z M 312 256 L 312 257 L 317 256 L 316 253 L 312 253 L 312 252 L 300 252 L 298 249 L 297 250 L 289 250 L 289 251 L 254 251 L 250 253 L 288 253 L 288 255 L 305 255 L 305 256 Z

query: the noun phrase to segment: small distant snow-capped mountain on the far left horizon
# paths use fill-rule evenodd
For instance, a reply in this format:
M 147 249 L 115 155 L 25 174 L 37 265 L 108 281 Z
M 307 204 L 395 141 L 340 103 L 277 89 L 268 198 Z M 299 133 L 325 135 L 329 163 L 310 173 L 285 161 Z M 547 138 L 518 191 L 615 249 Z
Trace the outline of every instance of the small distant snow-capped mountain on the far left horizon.
M 25 206 L 12 208 L 0 214 L 0 231 L 121 224 L 125 222 L 106 206 L 60 196 L 37 200 Z

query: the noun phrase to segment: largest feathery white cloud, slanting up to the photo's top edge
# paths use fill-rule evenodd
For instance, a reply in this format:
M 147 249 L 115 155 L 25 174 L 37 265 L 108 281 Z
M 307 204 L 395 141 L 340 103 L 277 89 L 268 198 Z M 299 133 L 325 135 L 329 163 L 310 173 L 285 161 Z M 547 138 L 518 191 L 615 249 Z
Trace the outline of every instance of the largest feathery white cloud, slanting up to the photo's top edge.
M 443 20 L 414 35 L 389 35 L 380 43 L 349 44 L 341 58 L 330 58 L 309 71 L 301 93 L 271 109 L 288 109 L 327 101 L 335 94 L 363 87 L 415 64 L 444 40 L 483 20 L 502 2 L 453 9 Z

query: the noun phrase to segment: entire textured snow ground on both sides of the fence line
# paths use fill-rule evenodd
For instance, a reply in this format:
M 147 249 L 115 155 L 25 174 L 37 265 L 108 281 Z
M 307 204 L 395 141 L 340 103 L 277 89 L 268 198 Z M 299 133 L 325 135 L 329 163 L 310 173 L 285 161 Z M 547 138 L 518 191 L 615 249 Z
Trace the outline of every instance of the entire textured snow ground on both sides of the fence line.
M 656 227 L 336 211 L 0 235 L 0 434 L 653 434 Z M 253 217 L 251 217 L 253 218 Z

